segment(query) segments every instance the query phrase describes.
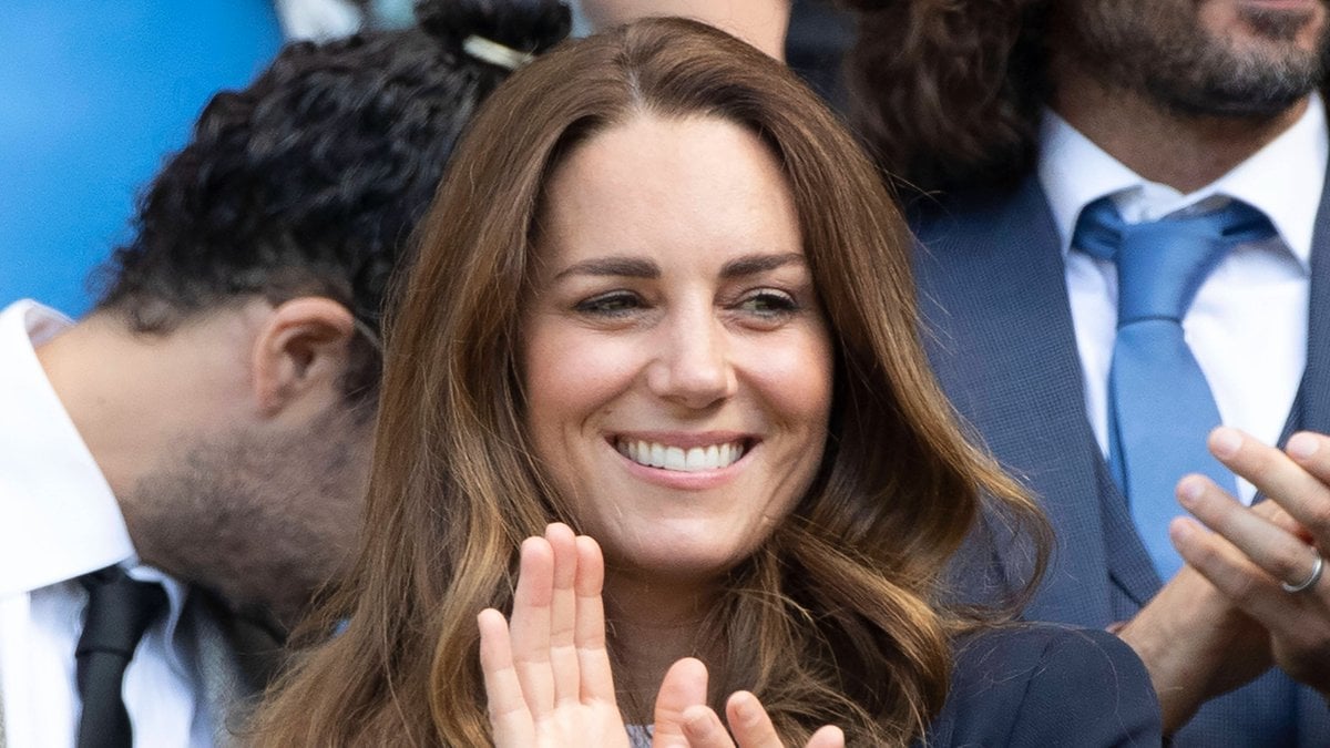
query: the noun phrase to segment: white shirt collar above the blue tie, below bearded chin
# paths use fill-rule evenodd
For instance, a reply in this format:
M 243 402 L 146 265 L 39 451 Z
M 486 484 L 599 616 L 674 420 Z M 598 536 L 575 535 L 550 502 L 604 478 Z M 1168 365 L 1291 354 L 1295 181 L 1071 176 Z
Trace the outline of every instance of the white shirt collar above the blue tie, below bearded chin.
M 1303 270 L 1310 268 L 1311 233 L 1330 157 L 1318 93 L 1311 94 L 1306 112 L 1289 129 L 1190 194 L 1146 181 L 1052 110 L 1044 112 L 1039 140 L 1039 181 L 1052 206 L 1063 252 L 1071 246 L 1081 209 L 1100 197 L 1115 196 L 1124 218 L 1141 221 L 1224 196 L 1261 209 Z

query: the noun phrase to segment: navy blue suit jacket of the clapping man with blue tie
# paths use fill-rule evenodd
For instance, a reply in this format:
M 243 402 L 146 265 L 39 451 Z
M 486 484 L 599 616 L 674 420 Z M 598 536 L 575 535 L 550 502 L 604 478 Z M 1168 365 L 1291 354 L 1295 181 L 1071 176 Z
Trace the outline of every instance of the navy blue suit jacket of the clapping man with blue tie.
M 1330 431 L 1330 190 L 1311 253 L 1307 369 L 1286 431 Z M 1057 229 L 1031 176 L 956 196 L 915 220 L 924 338 L 952 403 L 1003 465 L 1041 499 L 1056 530 L 1032 620 L 1104 627 L 1160 588 L 1127 502 L 1100 455 L 1081 387 Z M 1001 588 L 1024 554 L 994 543 L 972 591 Z M 987 562 L 986 562 L 987 563 Z M 1212 701 L 1177 745 L 1330 745 L 1330 713 L 1278 672 Z

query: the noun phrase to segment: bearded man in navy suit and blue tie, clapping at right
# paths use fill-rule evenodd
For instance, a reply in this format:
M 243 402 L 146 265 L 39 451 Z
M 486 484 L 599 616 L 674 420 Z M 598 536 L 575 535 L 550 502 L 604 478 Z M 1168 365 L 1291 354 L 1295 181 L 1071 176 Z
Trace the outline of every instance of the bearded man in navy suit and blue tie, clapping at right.
M 1174 745 L 1330 744 L 1325 1 L 846 4 L 932 362 L 1057 531 L 1025 615 L 1117 630 Z M 1156 269 L 1188 232 L 1204 260 Z M 1193 297 L 1142 313 L 1173 358 L 1142 353 L 1142 287 Z

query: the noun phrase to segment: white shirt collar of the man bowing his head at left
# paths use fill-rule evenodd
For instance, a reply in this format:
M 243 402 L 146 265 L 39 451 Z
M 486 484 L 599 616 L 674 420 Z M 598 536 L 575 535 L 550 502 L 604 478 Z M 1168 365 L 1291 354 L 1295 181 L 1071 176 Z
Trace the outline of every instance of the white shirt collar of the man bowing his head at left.
M 33 301 L 0 311 L 0 595 L 121 564 L 165 587 L 170 640 L 186 588 L 138 563 L 120 503 L 37 361 L 36 346 L 69 325 Z

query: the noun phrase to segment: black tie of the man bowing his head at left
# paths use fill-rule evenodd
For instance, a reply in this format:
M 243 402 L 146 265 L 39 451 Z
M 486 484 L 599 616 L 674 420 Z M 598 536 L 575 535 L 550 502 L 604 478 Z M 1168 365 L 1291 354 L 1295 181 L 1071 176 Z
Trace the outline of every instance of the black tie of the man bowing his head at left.
M 156 582 L 136 582 L 114 566 L 78 582 L 88 588 L 88 618 L 74 650 L 82 699 L 76 745 L 129 748 L 133 732 L 121 681 L 144 631 L 166 607 L 166 591 Z

